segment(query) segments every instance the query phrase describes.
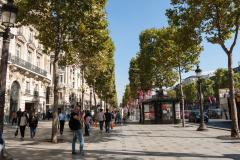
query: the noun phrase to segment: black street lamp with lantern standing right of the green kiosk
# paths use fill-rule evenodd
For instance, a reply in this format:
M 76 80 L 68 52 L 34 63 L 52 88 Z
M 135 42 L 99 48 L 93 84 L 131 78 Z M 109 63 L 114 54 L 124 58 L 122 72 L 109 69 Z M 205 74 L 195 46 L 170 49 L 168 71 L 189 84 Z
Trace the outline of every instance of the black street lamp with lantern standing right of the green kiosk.
M 205 131 L 207 130 L 206 124 L 204 123 L 204 113 L 203 113 L 203 95 L 202 95 L 202 81 L 201 81 L 201 72 L 202 70 L 199 68 L 199 65 L 197 65 L 197 69 L 195 70 L 196 76 L 197 76 L 197 86 L 198 86 L 198 100 L 200 105 L 200 125 L 197 129 L 197 131 Z

